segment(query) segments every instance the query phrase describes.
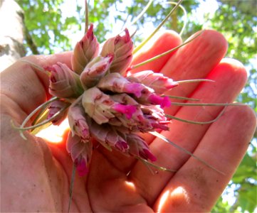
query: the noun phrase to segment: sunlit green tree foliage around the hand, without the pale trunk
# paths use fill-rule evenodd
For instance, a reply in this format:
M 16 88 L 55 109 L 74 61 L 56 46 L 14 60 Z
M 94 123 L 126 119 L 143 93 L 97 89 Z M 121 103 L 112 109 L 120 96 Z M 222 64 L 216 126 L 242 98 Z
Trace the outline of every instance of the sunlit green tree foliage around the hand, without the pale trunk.
M 71 16 L 67 16 L 60 9 L 67 0 L 16 0 L 25 11 L 26 40 L 24 45 L 28 54 L 51 54 L 57 51 L 71 50 L 72 40 L 70 35 L 84 29 L 85 15 L 84 6 L 76 5 Z M 227 57 L 236 58 L 246 65 L 249 80 L 246 88 L 238 100 L 249 104 L 256 109 L 256 0 L 248 1 L 226 1 L 217 0 L 219 9 L 214 16 L 206 14 L 200 23 L 194 20 L 195 11 L 198 9 L 199 1 L 184 1 L 183 6 L 187 9 L 189 24 L 187 31 L 182 35 L 187 38 L 192 33 L 199 31 L 203 23 L 209 23 L 211 28 L 223 33 L 229 42 Z M 74 1 L 75 2 L 75 1 Z M 202 2 L 202 1 L 201 1 Z M 79 3 L 79 2 L 77 2 Z M 70 3 L 74 4 L 74 3 Z M 98 0 L 89 1 L 89 21 L 94 23 L 95 34 L 98 40 L 103 42 L 112 34 L 112 29 L 123 24 L 131 23 L 147 5 L 147 1 L 133 0 Z M 152 23 L 157 26 L 169 13 L 170 4 L 164 1 L 154 1 L 147 13 L 137 21 L 137 36 L 135 42 L 142 40 L 140 29 L 147 28 Z M 182 10 L 177 10 L 165 24 L 165 28 L 180 31 L 184 23 Z M 81 35 L 82 36 L 82 35 Z M 141 37 L 140 37 L 141 36 Z M 252 141 L 249 151 L 243 158 L 236 174 L 232 178 L 227 190 L 234 192 L 235 202 L 230 204 L 222 198 L 219 199 L 212 212 L 253 212 L 256 209 L 256 138 Z

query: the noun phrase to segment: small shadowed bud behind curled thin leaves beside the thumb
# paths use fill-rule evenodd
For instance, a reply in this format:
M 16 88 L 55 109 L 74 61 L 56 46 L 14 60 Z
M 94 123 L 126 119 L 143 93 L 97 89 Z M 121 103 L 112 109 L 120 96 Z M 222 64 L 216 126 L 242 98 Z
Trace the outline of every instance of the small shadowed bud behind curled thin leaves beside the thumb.
M 47 119 L 51 119 L 54 115 L 56 115 L 61 109 L 68 108 L 70 104 L 68 102 L 63 102 L 61 100 L 51 102 L 50 106 L 48 107 L 49 112 Z M 68 109 L 61 111 L 61 113 L 56 116 L 55 119 L 52 120 L 52 124 L 58 126 L 67 116 Z

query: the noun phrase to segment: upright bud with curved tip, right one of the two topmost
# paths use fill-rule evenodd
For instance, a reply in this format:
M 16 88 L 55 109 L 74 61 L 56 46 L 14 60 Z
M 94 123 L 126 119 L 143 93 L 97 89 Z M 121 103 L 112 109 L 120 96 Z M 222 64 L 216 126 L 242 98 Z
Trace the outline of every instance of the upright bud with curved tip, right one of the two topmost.
M 133 43 L 130 33 L 125 29 L 125 35 L 117 35 L 114 38 L 106 40 L 100 53 L 103 57 L 109 54 L 114 55 L 110 72 L 123 73 L 127 70 L 132 60 Z

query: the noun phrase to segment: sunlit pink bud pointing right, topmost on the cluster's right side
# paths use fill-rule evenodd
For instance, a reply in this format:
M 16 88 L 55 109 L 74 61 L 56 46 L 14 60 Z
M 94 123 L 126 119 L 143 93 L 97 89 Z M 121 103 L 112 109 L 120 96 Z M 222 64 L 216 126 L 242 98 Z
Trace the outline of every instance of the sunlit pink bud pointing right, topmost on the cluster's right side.
M 145 84 L 147 87 L 154 89 L 154 92 L 157 94 L 163 94 L 167 90 L 176 87 L 178 84 L 173 82 L 172 79 L 164 77 L 162 73 L 152 72 L 151 70 L 145 70 L 142 72 L 137 72 L 128 77 L 130 80 L 139 81 L 142 84 Z

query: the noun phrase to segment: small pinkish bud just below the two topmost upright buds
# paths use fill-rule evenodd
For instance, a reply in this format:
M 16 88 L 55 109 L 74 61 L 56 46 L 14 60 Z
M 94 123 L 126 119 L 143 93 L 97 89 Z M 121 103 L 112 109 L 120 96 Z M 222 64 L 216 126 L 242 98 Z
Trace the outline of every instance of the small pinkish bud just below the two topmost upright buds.
M 108 55 L 105 58 L 98 56 L 91 60 L 80 74 L 80 81 L 84 89 L 93 87 L 103 75 L 109 70 L 113 56 Z

